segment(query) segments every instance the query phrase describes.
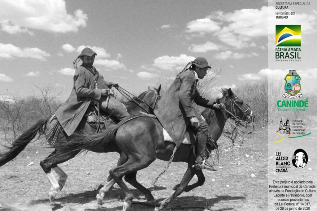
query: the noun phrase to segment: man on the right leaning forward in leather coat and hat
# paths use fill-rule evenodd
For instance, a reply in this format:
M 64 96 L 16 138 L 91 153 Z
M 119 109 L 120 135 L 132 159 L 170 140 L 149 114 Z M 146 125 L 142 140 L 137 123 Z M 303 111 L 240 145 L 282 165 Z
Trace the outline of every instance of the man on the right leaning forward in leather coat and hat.
M 188 65 L 191 65 L 188 69 Z M 216 169 L 206 162 L 206 143 L 209 141 L 208 125 L 194 110 L 193 103 L 211 108 L 222 109 L 223 104 L 215 104 L 197 91 L 197 81 L 204 78 L 207 69 L 211 68 L 204 58 L 196 58 L 180 72 L 164 96 L 157 103 L 154 113 L 177 146 L 180 145 L 188 125 L 197 132 L 196 169 Z

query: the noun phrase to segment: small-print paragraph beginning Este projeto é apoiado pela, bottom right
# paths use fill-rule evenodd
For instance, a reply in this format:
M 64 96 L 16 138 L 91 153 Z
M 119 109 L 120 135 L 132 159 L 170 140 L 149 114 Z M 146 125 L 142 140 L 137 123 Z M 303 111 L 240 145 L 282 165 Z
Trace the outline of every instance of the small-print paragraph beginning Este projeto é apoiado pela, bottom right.
M 273 180 L 268 192 L 274 197 L 275 210 L 310 210 L 316 197 L 316 185 L 311 180 Z

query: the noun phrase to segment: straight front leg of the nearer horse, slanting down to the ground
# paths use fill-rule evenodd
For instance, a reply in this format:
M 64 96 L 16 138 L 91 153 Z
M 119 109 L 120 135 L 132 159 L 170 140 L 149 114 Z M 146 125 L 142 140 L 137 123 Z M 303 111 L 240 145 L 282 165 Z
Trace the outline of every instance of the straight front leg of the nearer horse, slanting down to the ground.
M 175 192 L 164 199 L 162 202 L 159 202 L 160 206 L 156 207 L 154 210 L 159 211 L 166 208 L 166 206 L 173 201 L 178 195 L 184 192 L 185 188 L 187 187 L 188 183 L 191 181 L 193 176 L 196 174 L 196 170 L 191 166 L 188 166 L 187 171 L 185 172 L 182 181 L 180 182 L 179 186 L 176 188 Z

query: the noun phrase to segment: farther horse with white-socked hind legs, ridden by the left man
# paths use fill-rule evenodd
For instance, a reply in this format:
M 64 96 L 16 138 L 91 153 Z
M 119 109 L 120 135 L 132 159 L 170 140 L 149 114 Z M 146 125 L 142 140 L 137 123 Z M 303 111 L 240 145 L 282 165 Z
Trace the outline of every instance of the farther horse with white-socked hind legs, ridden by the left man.
M 140 112 L 152 113 L 155 104 L 160 98 L 160 90 L 161 85 L 159 85 L 157 89 L 148 87 L 148 90 L 141 93 L 139 97 L 133 97 L 130 101 L 122 103 L 126 106 L 130 115 L 136 115 Z M 87 117 L 84 117 L 75 132 L 81 131 L 81 133 L 95 133 L 96 127 L 96 125 L 87 121 Z M 49 178 L 49 182 L 51 184 L 51 188 L 49 190 L 49 201 L 51 202 L 56 197 L 58 190 L 61 190 L 64 187 L 68 177 L 67 174 L 61 170 L 58 164 L 74 158 L 81 151 L 77 150 L 68 153 L 61 152 L 59 146 L 67 143 L 72 135 L 68 137 L 66 133 L 63 132 L 58 121 L 54 118 L 54 115 L 38 120 L 33 126 L 22 132 L 17 139 L 13 140 L 13 142 L 10 143 L 10 146 L 6 146 L 9 151 L 0 153 L 0 166 L 14 159 L 20 152 L 22 152 L 30 141 L 36 137 L 36 134 L 39 134 L 39 137 L 44 135 L 46 141 L 55 148 L 54 152 L 40 162 L 40 165 Z M 98 146 L 87 149 L 93 152 L 121 152 L 115 145 L 109 148 Z M 52 169 L 58 174 L 58 181 L 51 171 Z

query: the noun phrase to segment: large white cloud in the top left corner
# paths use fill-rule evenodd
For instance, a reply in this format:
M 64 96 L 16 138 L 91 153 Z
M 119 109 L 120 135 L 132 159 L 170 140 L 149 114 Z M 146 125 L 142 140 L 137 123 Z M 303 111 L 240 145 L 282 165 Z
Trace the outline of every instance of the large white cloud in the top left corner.
M 30 29 L 54 33 L 77 32 L 86 27 L 82 10 L 67 13 L 63 0 L 3 0 L 0 7 L 1 30 L 10 34 L 29 33 Z

